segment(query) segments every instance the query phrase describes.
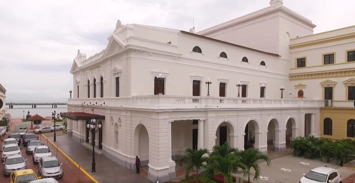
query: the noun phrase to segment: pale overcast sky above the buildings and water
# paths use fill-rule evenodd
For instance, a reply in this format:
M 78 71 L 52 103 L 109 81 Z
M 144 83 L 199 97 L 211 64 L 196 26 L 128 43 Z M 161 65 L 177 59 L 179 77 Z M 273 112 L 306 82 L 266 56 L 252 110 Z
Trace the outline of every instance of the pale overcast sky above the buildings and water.
M 315 33 L 353 26 L 354 0 L 283 0 Z M 77 50 L 105 49 L 116 21 L 196 31 L 269 6 L 269 0 L 3 0 L 0 83 L 7 102 L 67 101 Z

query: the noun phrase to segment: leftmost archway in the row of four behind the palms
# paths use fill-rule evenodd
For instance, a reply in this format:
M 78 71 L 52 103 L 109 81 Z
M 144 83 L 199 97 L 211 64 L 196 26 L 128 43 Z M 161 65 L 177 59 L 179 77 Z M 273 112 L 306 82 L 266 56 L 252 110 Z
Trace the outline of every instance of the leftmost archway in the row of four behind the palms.
M 234 128 L 230 122 L 223 122 L 219 124 L 216 131 L 216 145 L 223 145 L 228 142 L 228 144 L 235 148 L 234 140 L 231 138 L 231 134 L 234 135 Z

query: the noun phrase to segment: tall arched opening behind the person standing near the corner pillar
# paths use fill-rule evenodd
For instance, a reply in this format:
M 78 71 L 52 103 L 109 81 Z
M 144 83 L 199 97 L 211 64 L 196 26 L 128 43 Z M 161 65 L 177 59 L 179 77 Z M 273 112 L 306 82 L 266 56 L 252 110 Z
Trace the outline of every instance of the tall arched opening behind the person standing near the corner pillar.
M 141 166 L 149 163 L 149 136 L 147 128 L 143 124 L 138 124 L 134 132 L 134 157 L 138 156 Z

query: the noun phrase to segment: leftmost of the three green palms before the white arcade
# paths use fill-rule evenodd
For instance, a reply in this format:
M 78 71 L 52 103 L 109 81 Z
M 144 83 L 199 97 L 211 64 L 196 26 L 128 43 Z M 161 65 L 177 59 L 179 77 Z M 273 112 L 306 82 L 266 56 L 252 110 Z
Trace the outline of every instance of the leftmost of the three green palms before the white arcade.
M 185 179 L 186 181 L 189 179 L 190 171 L 193 167 L 196 167 L 196 183 L 198 183 L 198 172 L 206 166 L 206 162 L 208 161 L 208 157 L 204 156 L 208 154 L 207 149 L 192 149 L 187 148 L 185 150 L 185 156 L 181 157 L 178 161 L 178 165 L 182 167 L 182 162 L 187 160 L 187 166 L 185 168 Z

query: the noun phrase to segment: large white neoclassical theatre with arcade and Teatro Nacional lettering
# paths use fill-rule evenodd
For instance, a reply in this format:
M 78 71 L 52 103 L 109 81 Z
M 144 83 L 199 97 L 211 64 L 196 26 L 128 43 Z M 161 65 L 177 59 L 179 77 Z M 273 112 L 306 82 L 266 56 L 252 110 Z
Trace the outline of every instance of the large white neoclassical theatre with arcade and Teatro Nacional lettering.
M 91 143 L 86 124 L 95 118 L 105 156 L 132 169 L 140 156 L 161 182 L 175 178 L 189 147 L 228 142 L 266 154 L 297 136 L 320 137 L 325 101 L 292 79 L 303 71 L 290 70 L 293 42 L 313 28 L 282 0 L 196 33 L 118 21 L 106 49 L 78 50 L 73 60 L 73 98 L 61 113 L 68 135 Z

